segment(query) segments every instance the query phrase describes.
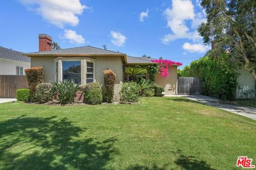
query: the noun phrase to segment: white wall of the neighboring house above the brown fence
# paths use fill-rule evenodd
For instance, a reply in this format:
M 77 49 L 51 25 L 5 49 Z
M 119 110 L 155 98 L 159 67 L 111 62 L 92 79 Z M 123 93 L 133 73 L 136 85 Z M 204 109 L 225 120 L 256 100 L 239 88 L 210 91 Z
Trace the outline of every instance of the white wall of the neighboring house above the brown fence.
M 30 68 L 30 63 L 0 58 L 0 75 L 16 75 L 16 66 L 22 66 L 25 75 L 25 69 Z

